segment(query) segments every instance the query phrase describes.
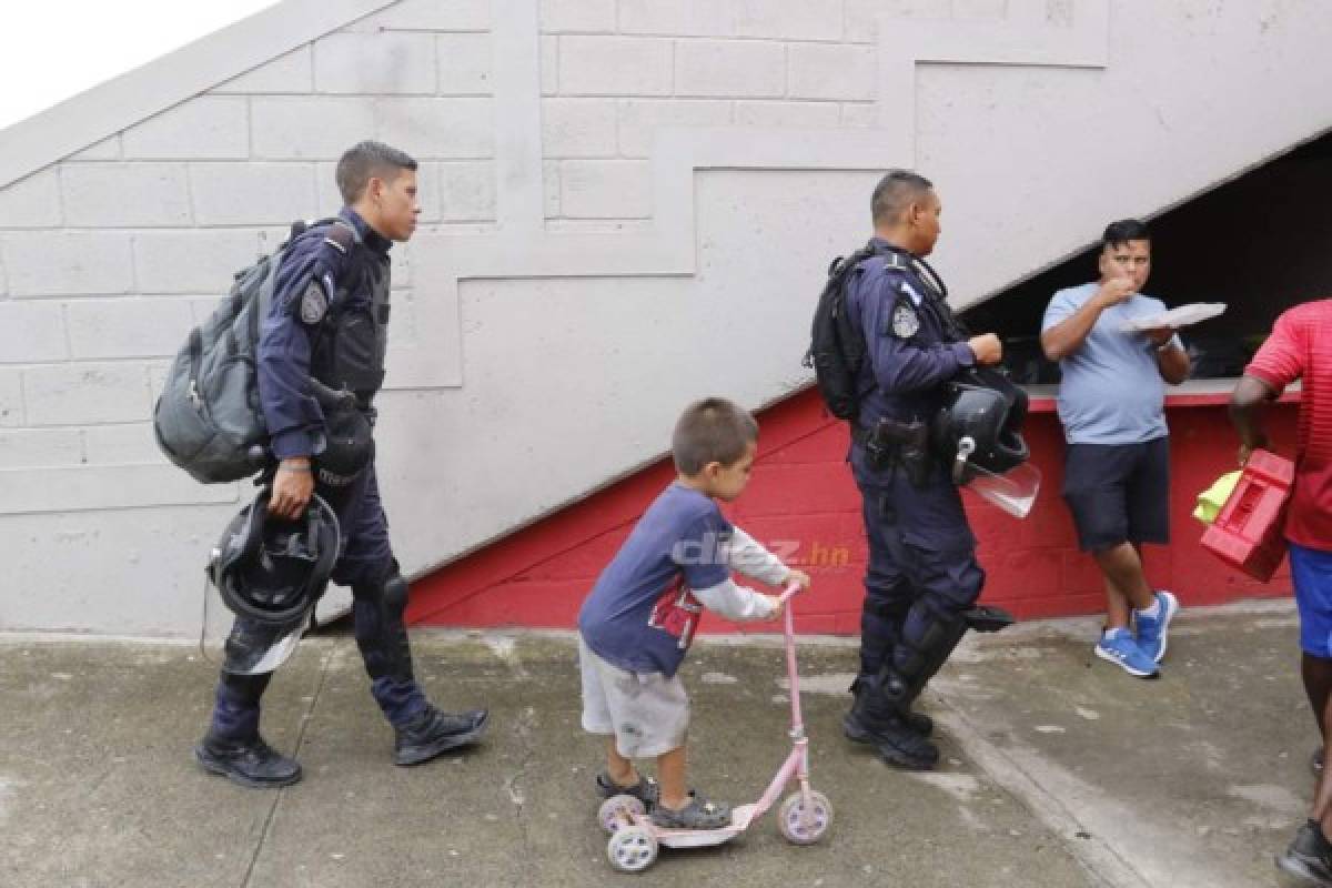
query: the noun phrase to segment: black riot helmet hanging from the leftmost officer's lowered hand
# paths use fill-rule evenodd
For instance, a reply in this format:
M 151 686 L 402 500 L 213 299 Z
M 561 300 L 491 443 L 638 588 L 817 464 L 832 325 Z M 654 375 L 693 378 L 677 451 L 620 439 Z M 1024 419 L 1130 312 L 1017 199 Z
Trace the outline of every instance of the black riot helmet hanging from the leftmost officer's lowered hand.
M 270 495 L 269 487 L 261 489 L 226 525 L 206 571 L 236 615 L 286 627 L 300 623 L 324 594 L 340 529 L 337 514 L 317 494 L 297 521 L 269 515 Z

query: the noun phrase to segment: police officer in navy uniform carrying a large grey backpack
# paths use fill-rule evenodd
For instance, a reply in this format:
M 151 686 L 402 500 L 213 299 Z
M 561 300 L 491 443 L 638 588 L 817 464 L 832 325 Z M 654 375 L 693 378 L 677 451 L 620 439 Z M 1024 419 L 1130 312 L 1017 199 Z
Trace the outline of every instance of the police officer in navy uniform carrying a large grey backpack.
M 416 682 L 402 622 L 408 583 L 389 545 L 368 431 L 384 382 L 389 248 L 412 237 L 421 212 L 416 170 L 412 157 L 380 142 L 342 154 L 336 176 L 345 206 L 337 220 L 293 237 L 258 343 L 260 401 L 274 458 L 265 475 L 269 517 L 298 519 L 316 493 L 337 513 L 342 550 L 333 580 L 352 587 L 356 642 L 370 691 L 393 724 L 397 764 L 476 742 L 488 718 L 484 710 L 437 710 Z M 337 394 L 332 402 L 329 393 Z M 349 413 L 334 417 L 338 410 Z M 330 446 L 330 429 L 345 419 L 366 429 L 350 469 L 346 453 Z M 298 627 L 273 627 L 237 616 L 212 724 L 194 751 L 205 768 L 249 787 L 300 779 L 300 764 L 262 740 L 258 719 L 272 668 L 284 659 L 278 648 L 302 627 L 304 618 Z

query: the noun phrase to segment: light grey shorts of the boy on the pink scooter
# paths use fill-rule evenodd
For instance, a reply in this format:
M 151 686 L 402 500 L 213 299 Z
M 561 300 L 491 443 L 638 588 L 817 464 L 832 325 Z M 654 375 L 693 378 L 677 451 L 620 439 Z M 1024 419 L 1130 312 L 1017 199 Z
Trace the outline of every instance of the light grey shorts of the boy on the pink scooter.
M 685 746 L 689 696 L 679 675 L 629 672 L 611 666 L 578 639 L 583 686 L 583 731 L 615 735 L 626 759 L 649 759 Z

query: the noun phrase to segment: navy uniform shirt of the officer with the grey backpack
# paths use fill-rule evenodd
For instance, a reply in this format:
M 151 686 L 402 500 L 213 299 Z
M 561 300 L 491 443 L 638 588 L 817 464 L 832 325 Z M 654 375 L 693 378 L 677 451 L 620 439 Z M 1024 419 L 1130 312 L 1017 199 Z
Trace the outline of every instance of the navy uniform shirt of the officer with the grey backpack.
M 349 206 L 338 216 L 356 228 L 365 248 L 386 260 L 392 241 Z M 357 272 L 357 258 L 329 242 L 322 229 L 297 237 L 277 270 L 273 304 L 260 330 L 258 395 L 278 459 L 309 457 L 324 447 L 324 413 L 310 394 L 309 382 L 312 335 L 322 321 L 322 316 L 314 318 L 318 293 L 326 310 L 340 289 L 361 286 L 354 280 Z M 308 298 L 312 285 L 318 292 Z

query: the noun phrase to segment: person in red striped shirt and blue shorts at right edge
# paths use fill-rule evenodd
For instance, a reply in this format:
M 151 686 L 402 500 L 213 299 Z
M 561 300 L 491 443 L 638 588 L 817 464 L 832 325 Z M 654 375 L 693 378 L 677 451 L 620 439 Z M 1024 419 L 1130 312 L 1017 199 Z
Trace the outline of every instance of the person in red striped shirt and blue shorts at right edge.
M 1305 302 L 1276 320 L 1272 335 L 1244 369 L 1231 395 L 1231 421 L 1240 433 L 1240 465 L 1267 446 L 1264 407 L 1300 379 L 1295 491 L 1287 514 L 1291 578 L 1300 611 L 1301 675 L 1323 732 L 1323 760 L 1332 740 L 1332 300 Z M 1309 820 L 1276 859 L 1277 865 L 1316 885 L 1332 887 L 1332 779 L 1319 774 Z

